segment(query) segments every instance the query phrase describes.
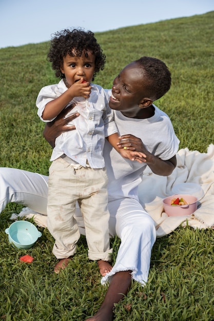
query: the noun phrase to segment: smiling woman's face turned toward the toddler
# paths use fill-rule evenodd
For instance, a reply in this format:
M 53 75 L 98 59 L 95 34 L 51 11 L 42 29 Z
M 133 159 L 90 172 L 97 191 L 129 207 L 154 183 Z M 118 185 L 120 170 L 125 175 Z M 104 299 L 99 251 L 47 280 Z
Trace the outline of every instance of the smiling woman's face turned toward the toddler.
M 146 97 L 144 84 L 139 65 L 135 62 L 127 65 L 113 81 L 110 108 L 122 111 L 127 117 L 134 117 L 140 110 L 140 102 Z

